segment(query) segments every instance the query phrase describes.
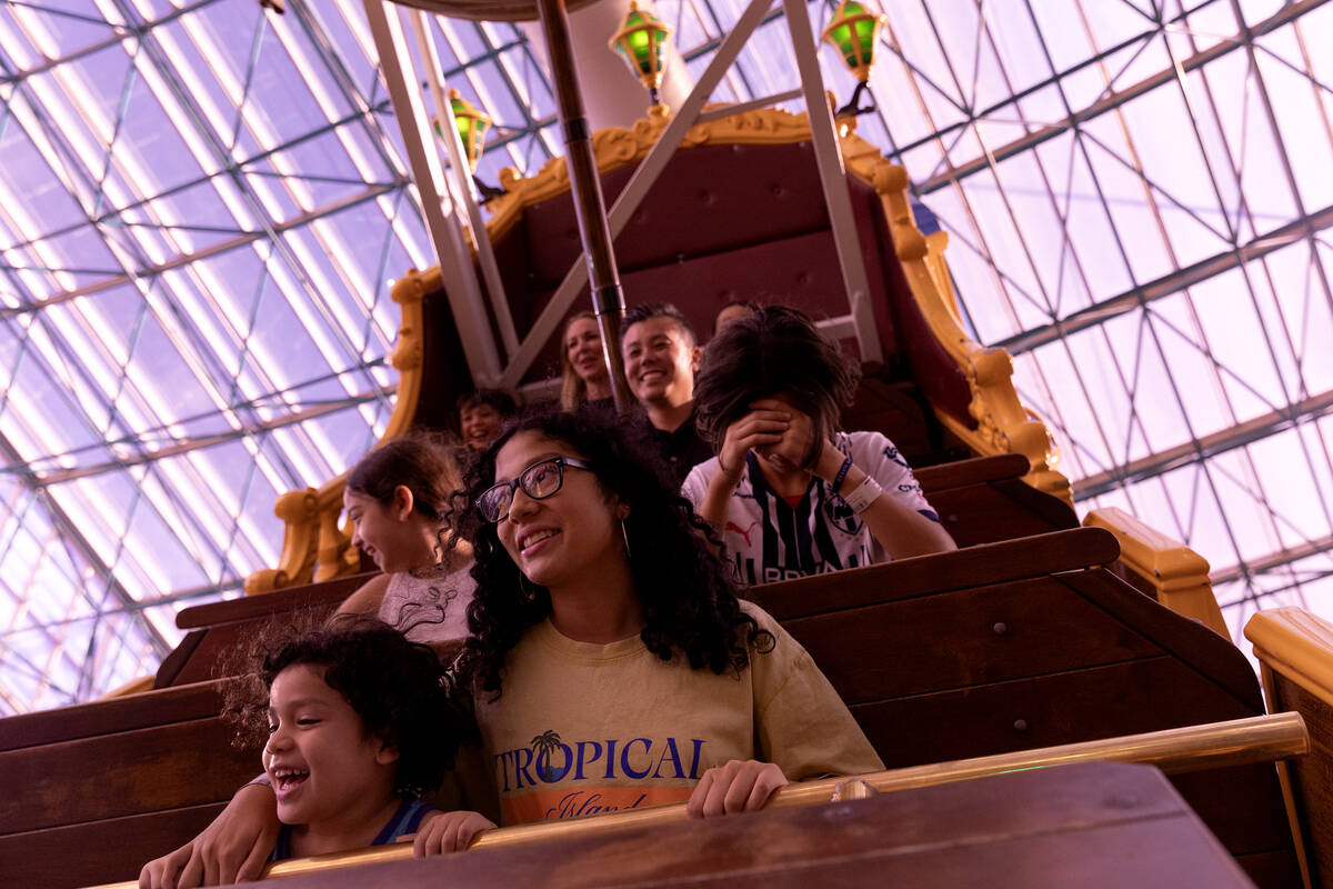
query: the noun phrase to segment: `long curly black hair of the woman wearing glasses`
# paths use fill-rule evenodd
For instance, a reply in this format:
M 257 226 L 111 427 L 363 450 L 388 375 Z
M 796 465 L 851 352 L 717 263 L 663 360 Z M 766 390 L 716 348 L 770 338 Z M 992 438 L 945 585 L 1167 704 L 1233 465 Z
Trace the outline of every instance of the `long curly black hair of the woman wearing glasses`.
M 712 526 L 663 482 L 620 429 L 588 415 L 539 413 L 516 423 L 477 456 L 459 494 L 457 530 L 472 544 L 477 581 L 468 606 L 472 637 L 460 661 L 464 676 L 500 697 L 509 650 L 528 628 L 551 614 L 551 593 L 521 576 L 500 542 L 496 524 L 472 506 L 495 484 L 496 453 L 527 431 L 569 445 L 593 465 L 604 490 L 631 504 L 625 533 L 631 577 L 645 620 L 640 638 L 648 650 L 664 661 L 680 653 L 690 669 L 721 674 L 744 669 L 752 649 L 772 649 L 773 634 L 741 610 Z

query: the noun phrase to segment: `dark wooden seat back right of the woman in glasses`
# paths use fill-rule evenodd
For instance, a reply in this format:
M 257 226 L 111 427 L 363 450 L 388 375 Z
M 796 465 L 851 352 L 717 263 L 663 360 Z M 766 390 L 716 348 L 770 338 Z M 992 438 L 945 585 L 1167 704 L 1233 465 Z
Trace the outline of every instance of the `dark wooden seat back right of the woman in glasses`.
M 1084 528 L 754 588 L 888 768 L 1264 713 L 1226 640 L 1109 572 Z M 1272 765 L 1173 778 L 1264 886 L 1298 880 Z

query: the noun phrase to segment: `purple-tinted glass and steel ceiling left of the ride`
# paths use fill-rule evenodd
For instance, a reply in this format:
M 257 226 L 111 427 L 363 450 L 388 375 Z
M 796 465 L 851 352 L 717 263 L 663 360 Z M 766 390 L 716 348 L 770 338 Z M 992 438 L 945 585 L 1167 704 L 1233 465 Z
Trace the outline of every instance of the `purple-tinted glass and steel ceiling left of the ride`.
M 433 263 L 360 4 L 103 9 L 0 5 L 0 713 L 149 672 L 276 562 L 277 496 L 383 432 L 388 289 Z M 483 173 L 544 163 L 521 32 L 435 27 L 504 125 Z

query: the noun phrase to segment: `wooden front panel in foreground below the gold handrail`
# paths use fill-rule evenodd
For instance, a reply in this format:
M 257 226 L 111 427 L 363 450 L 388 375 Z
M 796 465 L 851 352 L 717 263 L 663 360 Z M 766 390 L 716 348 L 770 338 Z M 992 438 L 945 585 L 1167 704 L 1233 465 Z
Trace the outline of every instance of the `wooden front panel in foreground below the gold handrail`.
M 1109 762 L 324 870 L 288 877 L 283 885 L 682 884 L 718 889 L 1252 885 L 1160 772 Z

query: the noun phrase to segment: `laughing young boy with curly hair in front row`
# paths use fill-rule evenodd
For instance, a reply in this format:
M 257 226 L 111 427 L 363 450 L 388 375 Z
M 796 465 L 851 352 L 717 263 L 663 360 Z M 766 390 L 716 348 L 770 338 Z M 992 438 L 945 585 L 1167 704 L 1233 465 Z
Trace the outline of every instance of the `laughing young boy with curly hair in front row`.
M 417 798 L 440 785 L 467 725 L 435 653 L 379 621 L 316 630 L 265 656 L 264 773 L 283 822 L 271 860 L 416 836 L 419 854 L 465 849 L 495 826 Z

